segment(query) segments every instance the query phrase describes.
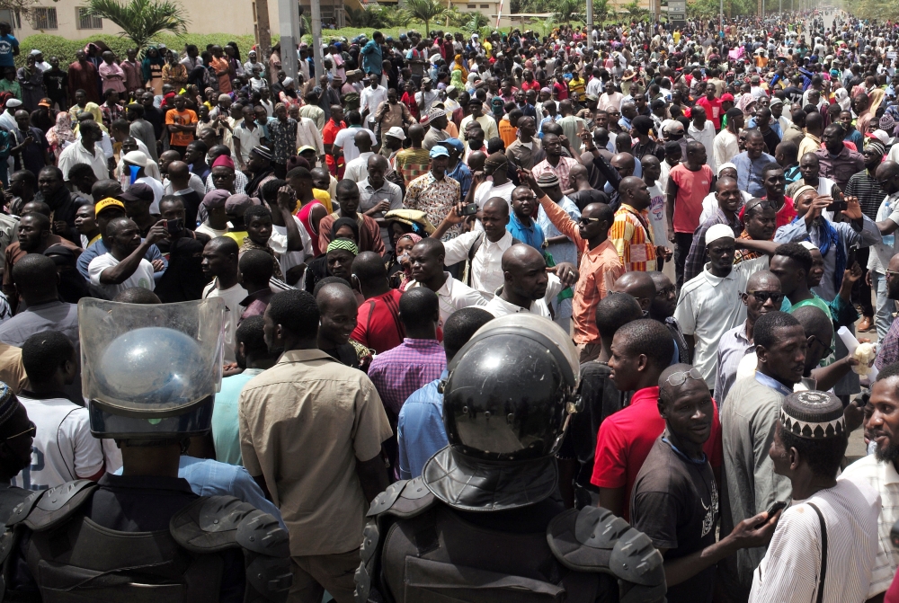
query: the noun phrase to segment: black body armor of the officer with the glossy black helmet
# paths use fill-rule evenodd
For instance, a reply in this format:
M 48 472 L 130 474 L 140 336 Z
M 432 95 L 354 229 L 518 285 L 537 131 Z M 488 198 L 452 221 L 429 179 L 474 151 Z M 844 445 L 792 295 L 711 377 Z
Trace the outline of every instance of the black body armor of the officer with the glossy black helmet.
M 545 533 L 485 529 L 416 478 L 381 492 L 369 518 L 356 603 L 664 601 L 662 555 L 608 510 L 566 510 Z

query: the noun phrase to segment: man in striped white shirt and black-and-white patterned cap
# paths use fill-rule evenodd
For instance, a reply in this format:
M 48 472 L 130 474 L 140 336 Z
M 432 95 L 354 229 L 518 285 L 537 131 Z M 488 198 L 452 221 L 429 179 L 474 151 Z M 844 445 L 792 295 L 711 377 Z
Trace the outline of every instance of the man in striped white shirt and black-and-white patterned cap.
M 848 442 L 835 395 L 806 391 L 784 400 L 769 455 L 793 495 L 752 574 L 751 603 L 846 603 L 870 596 L 881 501 L 859 476 L 837 479 Z

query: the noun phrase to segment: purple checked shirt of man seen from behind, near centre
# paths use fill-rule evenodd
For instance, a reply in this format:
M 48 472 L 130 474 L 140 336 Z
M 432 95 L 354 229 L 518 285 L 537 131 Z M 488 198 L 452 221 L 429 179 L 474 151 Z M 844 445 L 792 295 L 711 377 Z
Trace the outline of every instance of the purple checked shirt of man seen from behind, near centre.
M 378 389 L 387 416 L 396 422 L 406 398 L 440 377 L 446 367 L 446 352 L 439 341 L 406 337 L 371 361 L 369 379 Z

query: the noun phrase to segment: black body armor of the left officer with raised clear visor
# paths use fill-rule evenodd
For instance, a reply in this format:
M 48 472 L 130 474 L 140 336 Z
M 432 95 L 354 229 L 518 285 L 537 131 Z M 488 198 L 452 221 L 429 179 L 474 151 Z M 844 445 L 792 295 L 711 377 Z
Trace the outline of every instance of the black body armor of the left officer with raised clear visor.
M 77 510 L 98 488 L 87 480 L 34 492 L 13 510 L 0 539 L 4 600 L 11 555 L 20 547 L 44 603 L 213 603 L 228 549 L 242 549 L 246 603 L 284 601 L 291 583 L 287 532 L 271 515 L 232 496 L 201 497 L 174 514 L 168 530 L 120 532 Z M 27 529 L 26 529 L 27 528 Z M 31 595 L 31 597 L 30 597 Z

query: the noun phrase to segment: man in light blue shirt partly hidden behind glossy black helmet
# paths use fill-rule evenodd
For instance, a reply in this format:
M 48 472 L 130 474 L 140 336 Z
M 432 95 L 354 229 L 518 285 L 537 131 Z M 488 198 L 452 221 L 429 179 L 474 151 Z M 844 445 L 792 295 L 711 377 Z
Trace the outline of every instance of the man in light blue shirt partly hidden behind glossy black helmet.
M 471 306 L 457 310 L 447 318 L 443 324 L 447 366 L 471 336 L 493 317 L 484 308 Z M 437 390 L 437 386 L 447 377 L 449 371 L 444 370 L 440 378 L 410 395 L 400 409 L 396 423 L 400 479 L 411 480 L 421 475 L 428 459 L 447 446 L 447 432 L 443 427 L 443 395 Z

